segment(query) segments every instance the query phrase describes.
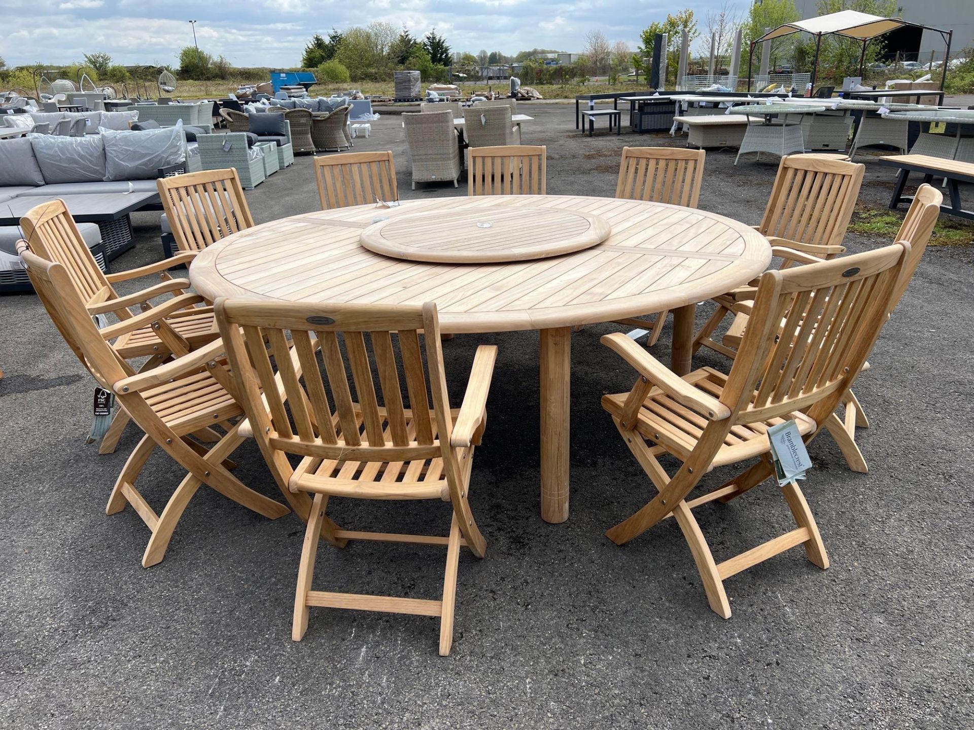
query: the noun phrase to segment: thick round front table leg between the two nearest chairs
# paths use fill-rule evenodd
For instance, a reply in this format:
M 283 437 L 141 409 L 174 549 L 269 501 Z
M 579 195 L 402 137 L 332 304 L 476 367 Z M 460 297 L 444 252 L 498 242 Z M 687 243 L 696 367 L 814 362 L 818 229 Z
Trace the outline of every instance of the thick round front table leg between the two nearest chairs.
M 542 519 L 568 519 L 572 328 L 541 331 Z

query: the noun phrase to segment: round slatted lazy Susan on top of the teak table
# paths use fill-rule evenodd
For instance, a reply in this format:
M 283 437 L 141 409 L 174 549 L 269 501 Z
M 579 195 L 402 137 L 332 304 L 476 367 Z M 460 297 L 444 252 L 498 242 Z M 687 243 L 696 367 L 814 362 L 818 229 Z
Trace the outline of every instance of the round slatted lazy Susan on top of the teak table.
M 427 210 L 373 223 L 360 242 L 395 259 L 479 264 L 560 256 L 590 248 L 611 233 L 612 226 L 598 215 L 469 201 L 449 215 Z

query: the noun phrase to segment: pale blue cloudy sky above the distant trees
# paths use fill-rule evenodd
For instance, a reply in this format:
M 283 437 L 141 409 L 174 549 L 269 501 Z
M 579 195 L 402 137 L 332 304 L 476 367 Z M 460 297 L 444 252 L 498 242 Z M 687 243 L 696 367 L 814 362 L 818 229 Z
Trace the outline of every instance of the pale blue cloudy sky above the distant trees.
M 703 26 L 724 0 L 0 0 L 0 55 L 9 66 L 80 60 L 103 52 L 116 63 L 174 63 L 193 43 L 235 66 L 294 66 L 309 37 L 385 20 L 416 35 L 431 27 L 454 51 L 515 54 L 532 48 L 579 52 L 588 30 L 635 46 L 639 31 L 675 8 L 691 7 Z M 741 12 L 748 0 L 730 0 Z

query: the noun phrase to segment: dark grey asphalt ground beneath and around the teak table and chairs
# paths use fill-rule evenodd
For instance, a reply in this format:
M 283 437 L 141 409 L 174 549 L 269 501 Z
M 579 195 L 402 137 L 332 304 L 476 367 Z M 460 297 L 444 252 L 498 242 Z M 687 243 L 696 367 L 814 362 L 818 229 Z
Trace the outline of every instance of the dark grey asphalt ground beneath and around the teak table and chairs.
M 612 196 L 623 145 L 668 135 L 581 136 L 570 107 L 523 105 L 525 143 L 547 145 L 551 194 Z M 403 130 L 373 123 L 356 150 L 395 154 L 403 199 L 465 195 L 409 186 Z M 751 156 L 753 158 L 753 156 Z M 757 223 L 776 159 L 708 152 L 700 207 Z M 869 164 L 861 200 L 884 205 L 892 173 Z M 247 201 L 258 222 L 318 208 L 299 157 Z M 135 216 L 117 271 L 161 257 L 158 214 Z M 849 248 L 884 242 L 849 237 Z M 707 606 L 683 537 L 664 521 L 625 547 L 605 529 L 652 487 L 601 410 L 632 372 L 573 342 L 572 514 L 539 517 L 537 333 L 445 343 L 458 400 L 474 348 L 500 347 L 471 503 L 489 546 L 461 559 L 453 652 L 424 617 L 312 609 L 290 639 L 303 525 L 271 522 L 217 493 L 190 503 L 166 560 L 143 569 L 148 530 L 108 493 L 138 434 L 86 446 L 93 381 L 33 295 L 0 297 L 0 726 L 10 728 L 963 728 L 971 703 L 970 484 L 974 249 L 930 248 L 856 392 L 872 422 L 854 474 L 825 434 L 803 486 L 832 567 L 801 549 L 727 582 L 733 616 Z M 707 307 L 699 308 L 702 318 Z M 669 327 L 654 348 L 669 359 Z M 725 367 L 701 352 L 696 365 Z M 253 444 L 248 486 L 279 497 Z M 731 470 L 703 479 L 713 488 Z M 183 473 L 153 456 L 139 489 L 161 509 Z M 696 510 L 718 561 L 793 529 L 770 483 Z M 445 534 L 442 503 L 332 502 L 352 529 Z M 440 548 L 322 543 L 316 587 L 438 598 Z

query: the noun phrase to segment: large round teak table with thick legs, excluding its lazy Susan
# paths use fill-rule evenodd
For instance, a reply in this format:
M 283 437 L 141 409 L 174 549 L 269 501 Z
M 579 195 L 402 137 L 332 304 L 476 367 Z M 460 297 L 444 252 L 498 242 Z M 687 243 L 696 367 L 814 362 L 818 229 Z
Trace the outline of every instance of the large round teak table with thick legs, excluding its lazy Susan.
M 363 247 L 362 231 L 384 219 L 440 213 L 459 205 L 555 208 L 597 216 L 612 227 L 602 243 L 538 260 L 427 263 Z M 525 210 L 523 228 L 532 226 Z M 538 237 L 550 239 L 545 227 Z M 768 240 L 743 223 L 657 202 L 582 196 L 492 196 L 404 201 L 283 218 L 209 246 L 190 266 L 208 299 L 422 304 L 435 302 L 444 333 L 541 330 L 542 517 L 568 519 L 572 328 L 673 310 L 677 374 L 690 372 L 697 302 L 724 294 L 768 267 Z

